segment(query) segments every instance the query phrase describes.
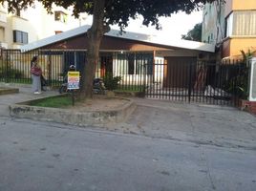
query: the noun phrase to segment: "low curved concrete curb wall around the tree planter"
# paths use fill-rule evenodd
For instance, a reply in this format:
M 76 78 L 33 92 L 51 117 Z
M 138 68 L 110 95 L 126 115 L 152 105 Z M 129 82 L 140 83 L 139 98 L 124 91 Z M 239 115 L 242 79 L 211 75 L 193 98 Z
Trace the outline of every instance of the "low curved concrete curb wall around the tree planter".
M 54 121 L 82 127 L 89 125 L 103 126 L 106 123 L 121 122 L 132 114 L 137 106 L 133 100 L 125 99 L 129 102 L 117 109 L 108 111 L 75 112 L 68 109 L 24 105 L 25 102 L 12 104 L 9 108 L 11 117 Z

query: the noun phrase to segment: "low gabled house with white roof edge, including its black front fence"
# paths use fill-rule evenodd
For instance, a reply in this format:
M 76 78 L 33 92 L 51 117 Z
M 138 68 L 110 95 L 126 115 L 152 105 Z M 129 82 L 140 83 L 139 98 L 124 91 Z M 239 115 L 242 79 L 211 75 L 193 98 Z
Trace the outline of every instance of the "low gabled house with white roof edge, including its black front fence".
M 86 32 L 90 27 L 81 26 L 32 42 L 16 54 L 3 50 L 0 68 L 4 63 L 15 73 L 9 75 L 14 76 L 12 80 L 19 75 L 30 82 L 30 60 L 37 54 L 51 86 L 62 83 L 70 65 L 75 65 L 83 76 L 87 64 Z M 235 93 L 227 90 L 232 88 L 232 78 L 241 71 L 238 67 L 217 63 L 213 44 L 173 41 L 139 32 L 120 35 L 111 30 L 102 38 L 95 76 L 120 76 L 118 90 L 137 91 L 147 97 L 229 105 L 236 101 Z

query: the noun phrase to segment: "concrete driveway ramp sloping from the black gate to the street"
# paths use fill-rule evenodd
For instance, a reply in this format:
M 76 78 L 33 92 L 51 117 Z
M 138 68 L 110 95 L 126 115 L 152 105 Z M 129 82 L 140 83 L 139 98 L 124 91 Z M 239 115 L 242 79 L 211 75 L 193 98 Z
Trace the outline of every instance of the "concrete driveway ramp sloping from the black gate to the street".
M 111 130 L 256 150 L 256 117 L 251 114 L 232 107 L 134 100 L 138 104 L 135 112 Z

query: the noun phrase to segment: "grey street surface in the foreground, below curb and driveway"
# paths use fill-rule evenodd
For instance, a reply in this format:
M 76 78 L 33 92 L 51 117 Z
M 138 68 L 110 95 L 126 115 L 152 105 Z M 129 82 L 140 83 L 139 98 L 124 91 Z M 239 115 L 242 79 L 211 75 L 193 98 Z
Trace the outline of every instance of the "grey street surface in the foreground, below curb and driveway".
M 254 191 L 256 151 L 0 117 L 1 191 Z

